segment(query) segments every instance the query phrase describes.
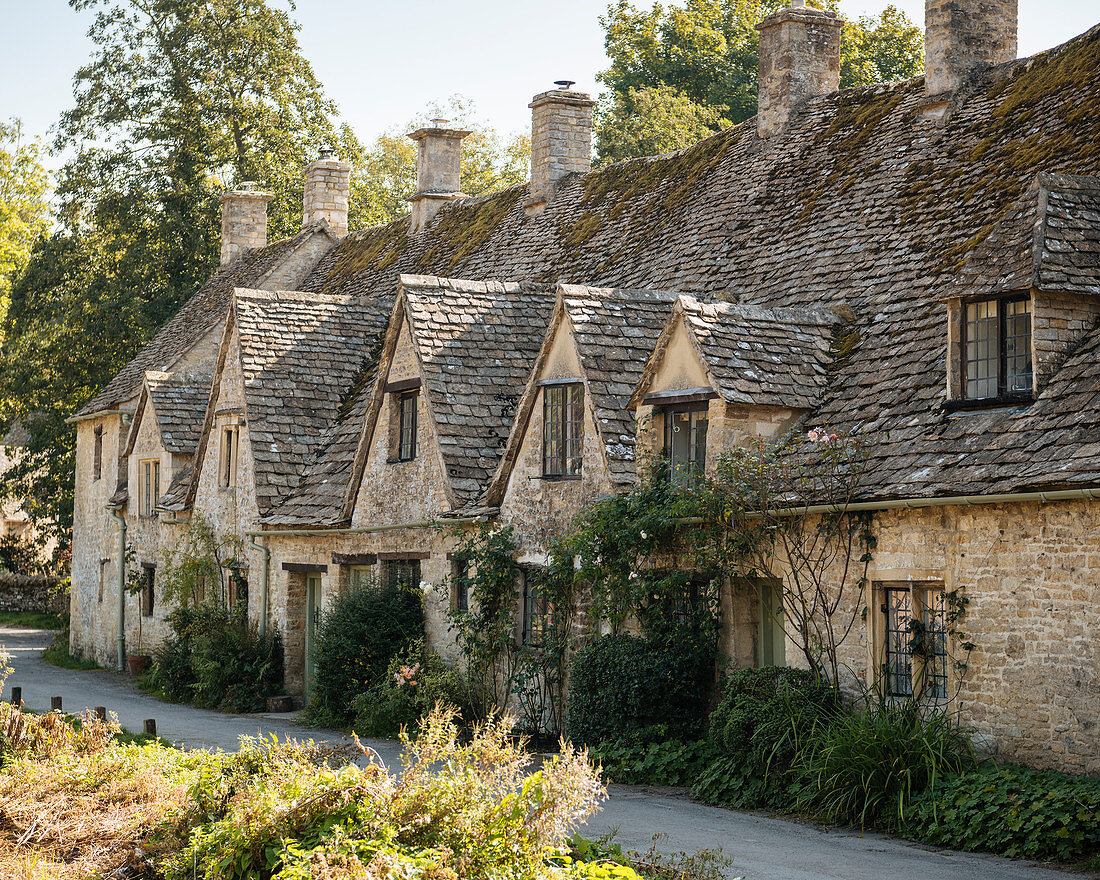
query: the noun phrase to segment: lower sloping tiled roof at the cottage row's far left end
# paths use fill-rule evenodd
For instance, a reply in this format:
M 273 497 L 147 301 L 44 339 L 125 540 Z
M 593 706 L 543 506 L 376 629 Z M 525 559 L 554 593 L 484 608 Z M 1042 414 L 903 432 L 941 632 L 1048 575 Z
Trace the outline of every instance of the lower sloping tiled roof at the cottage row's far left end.
M 170 370 L 204 336 L 226 319 L 234 287 L 251 287 L 278 267 L 317 231 L 307 227 L 297 235 L 249 251 L 218 271 L 162 327 L 152 341 L 76 414 L 88 416 L 112 409 L 141 393 L 148 370 Z

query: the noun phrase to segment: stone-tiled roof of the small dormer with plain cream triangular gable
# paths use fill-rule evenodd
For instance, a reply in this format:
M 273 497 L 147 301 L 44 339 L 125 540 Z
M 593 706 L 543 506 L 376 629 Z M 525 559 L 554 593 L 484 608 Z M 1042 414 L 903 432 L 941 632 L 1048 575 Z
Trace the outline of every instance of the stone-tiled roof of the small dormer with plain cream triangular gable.
M 809 308 L 763 309 L 682 296 L 675 316 L 695 338 L 730 404 L 813 409 L 821 403 L 840 319 Z

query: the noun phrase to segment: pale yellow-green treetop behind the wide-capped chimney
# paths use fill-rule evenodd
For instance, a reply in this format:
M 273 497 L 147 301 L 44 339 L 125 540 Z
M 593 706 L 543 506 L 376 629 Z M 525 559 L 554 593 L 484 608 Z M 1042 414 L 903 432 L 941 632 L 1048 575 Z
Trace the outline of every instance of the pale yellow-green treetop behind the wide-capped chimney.
M 472 102 L 453 96 L 407 125 L 378 135 L 369 151 L 350 160 L 354 166 L 349 209 L 352 228 L 388 223 L 408 213 L 408 199 L 416 193 L 416 144 L 406 135 L 439 118 L 453 128 L 471 130 L 462 141 L 463 193 L 480 196 L 527 179 L 530 139 L 526 134 L 503 139 L 477 117 Z

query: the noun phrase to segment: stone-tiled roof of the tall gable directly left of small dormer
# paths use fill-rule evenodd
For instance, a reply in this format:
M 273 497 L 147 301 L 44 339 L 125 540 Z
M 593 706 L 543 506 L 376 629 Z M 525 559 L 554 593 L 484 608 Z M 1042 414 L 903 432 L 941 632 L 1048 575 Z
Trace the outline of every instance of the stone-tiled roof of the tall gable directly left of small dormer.
M 627 403 L 676 295 L 572 284 L 559 289 L 588 380 L 588 396 L 612 480 L 620 485 L 632 483 L 637 473 L 637 428 Z

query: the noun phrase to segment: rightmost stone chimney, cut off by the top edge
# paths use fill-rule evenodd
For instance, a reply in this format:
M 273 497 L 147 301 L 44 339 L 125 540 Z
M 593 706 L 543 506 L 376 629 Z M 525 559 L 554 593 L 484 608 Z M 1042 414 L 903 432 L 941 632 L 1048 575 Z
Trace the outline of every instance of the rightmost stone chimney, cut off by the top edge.
M 924 91 L 955 91 L 967 76 L 1016 57 L 1016 0 L 925 0 Z

